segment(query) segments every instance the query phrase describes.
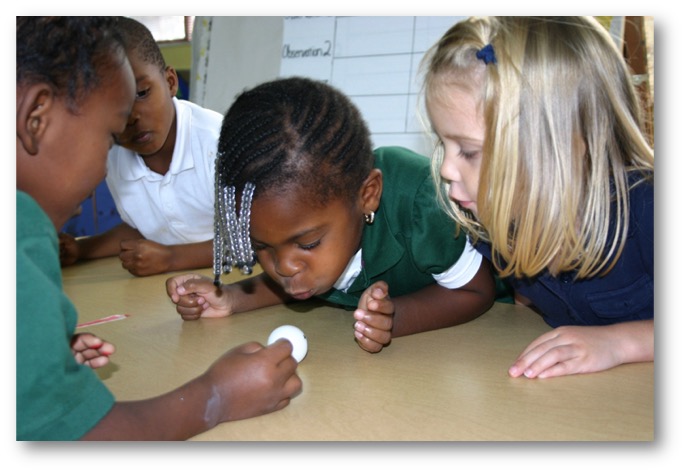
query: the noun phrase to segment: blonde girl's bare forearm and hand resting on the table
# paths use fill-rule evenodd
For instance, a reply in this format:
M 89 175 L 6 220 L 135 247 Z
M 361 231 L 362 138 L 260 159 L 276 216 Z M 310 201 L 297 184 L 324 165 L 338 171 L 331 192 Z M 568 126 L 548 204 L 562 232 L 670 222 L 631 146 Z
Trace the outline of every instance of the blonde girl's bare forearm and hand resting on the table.
M 509 368 L 509 375 L 542 379 L 653 360 L 654 320 L 561 326 L 528 345 Z

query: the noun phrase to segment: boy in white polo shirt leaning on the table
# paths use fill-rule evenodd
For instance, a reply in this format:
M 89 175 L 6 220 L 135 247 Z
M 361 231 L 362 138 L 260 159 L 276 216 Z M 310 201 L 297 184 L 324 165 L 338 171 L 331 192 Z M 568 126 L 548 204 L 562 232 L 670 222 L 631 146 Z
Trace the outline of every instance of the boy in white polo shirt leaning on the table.
M 133 275 L 212 265 L 214 158 L 223 116 L 178 100 L 176 71 L 145 25 L 119 19 L 136 101 L 107 158 L 107 186 L 122 224 L 60 235 L 62 265 L 119 255 Z

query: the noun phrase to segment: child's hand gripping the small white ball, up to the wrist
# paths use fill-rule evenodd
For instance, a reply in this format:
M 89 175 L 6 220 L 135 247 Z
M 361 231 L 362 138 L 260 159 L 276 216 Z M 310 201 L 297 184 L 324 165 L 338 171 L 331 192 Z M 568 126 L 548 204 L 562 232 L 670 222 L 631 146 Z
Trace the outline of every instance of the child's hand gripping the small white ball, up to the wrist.
M 224 354 L 205 373 L 216 392 L 206 416 L 234 421 L 286 407 L 302 390 L 291 352 L 290 342 L 279 340 L 267 347 L 243 344 Z

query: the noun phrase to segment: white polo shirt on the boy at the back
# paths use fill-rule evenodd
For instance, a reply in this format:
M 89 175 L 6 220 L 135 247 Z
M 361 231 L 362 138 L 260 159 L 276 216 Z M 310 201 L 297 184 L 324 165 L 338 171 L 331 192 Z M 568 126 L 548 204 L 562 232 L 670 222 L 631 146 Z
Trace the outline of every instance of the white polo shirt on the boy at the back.
M 107 186 L 121 219 L 160 244 L 214 237 L 214 160 L 223 116 L 174 100 L 176 144 L 165 175 L 151 171 L 135 152 L 114 146 L 107 157 Z

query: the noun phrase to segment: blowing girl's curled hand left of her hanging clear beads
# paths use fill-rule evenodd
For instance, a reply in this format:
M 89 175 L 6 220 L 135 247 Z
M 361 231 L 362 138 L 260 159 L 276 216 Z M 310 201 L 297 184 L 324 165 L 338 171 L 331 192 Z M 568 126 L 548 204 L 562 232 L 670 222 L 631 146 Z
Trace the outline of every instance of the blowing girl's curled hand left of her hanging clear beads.
M 221 318 L 231 314 L 228 291 L 199 274 L 184 274 L 166 281 L 166 291 L 184 320 Z

